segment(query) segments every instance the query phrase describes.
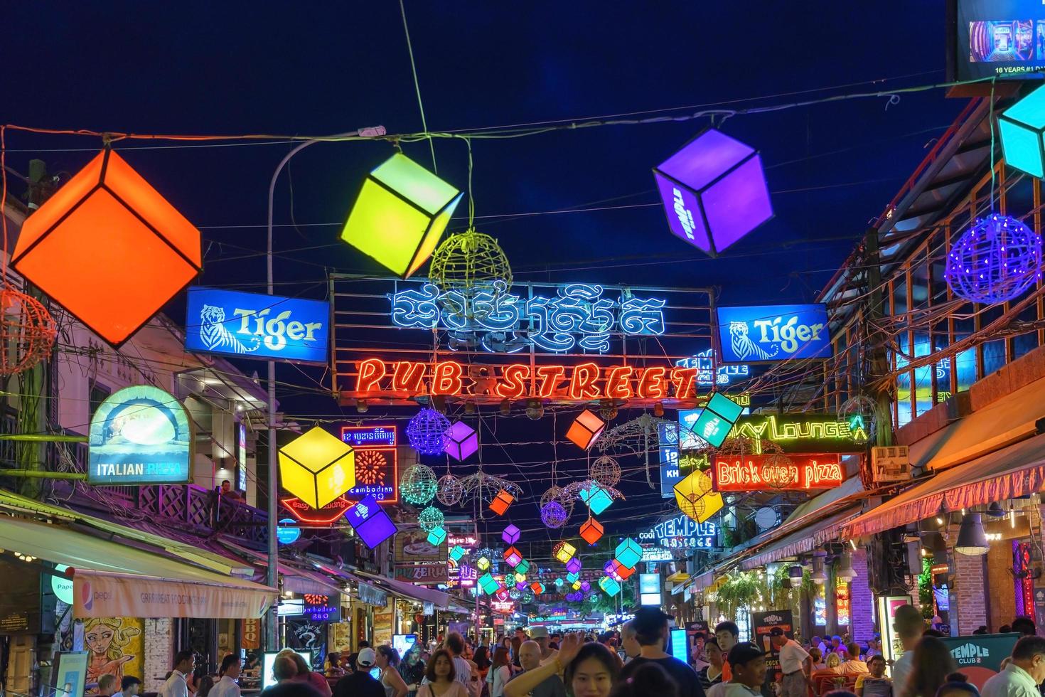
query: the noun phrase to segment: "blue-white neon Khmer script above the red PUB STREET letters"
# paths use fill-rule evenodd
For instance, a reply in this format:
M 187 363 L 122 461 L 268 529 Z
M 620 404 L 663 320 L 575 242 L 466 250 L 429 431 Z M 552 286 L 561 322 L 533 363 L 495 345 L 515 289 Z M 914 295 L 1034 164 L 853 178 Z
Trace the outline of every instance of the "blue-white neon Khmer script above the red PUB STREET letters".
M 525 298 L 509 293 L 505 281 L 463 293 L 440 292 L 434 283 L 389 296 L 391 319 L 398 327 L 445 329 L 450 348 L 471 336 L 484 349 L 515 353 L 531 345 L 553 353 L 579 348 L 605 353 L 610 336 L 659 335 L 665 332 L 661 298 L 603 297 L 603 287 L 589 283 L 560 286 L 555 297 Z

